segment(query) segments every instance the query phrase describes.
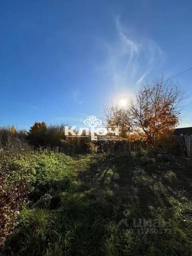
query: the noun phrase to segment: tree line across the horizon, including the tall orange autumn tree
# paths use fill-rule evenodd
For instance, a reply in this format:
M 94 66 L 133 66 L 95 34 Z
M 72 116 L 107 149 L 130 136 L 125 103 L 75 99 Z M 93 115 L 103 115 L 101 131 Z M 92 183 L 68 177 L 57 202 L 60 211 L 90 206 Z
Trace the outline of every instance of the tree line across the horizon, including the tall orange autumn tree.
M 67 154 L 81 154 L 98 150 L 134 149 L 139 143 L 142 147 L 148 145 L 151 148 L 168 145 L 174 141 L 173 132 L 181 121 L 185 98 L 185 91 L 178 83 L 157 77 L 151 83 L 144 81 L 134 96 L 126 97 L 125 106 L 118 101 L 104 106 L 101 115 L 103 123 L 108 127 L 118 126 L 119 137 L 125 138 L 129 145 L 125 145 L 125 141 L 93 142 L 90 136 L 67 137 L 66 124 L 47 125 L 36 121 L 29 131 L 14 126 L 1 127 L 0 147 L 50 147 Z

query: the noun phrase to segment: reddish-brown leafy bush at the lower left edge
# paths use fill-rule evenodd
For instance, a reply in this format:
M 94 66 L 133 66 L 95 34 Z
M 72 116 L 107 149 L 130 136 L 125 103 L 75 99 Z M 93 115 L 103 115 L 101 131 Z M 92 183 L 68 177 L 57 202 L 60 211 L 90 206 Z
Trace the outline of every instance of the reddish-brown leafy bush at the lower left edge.
M 8 177 L 0 173 L 0 246 L 12 234 L 14 221 L 26 200 L 26 180 L 8 185 Z

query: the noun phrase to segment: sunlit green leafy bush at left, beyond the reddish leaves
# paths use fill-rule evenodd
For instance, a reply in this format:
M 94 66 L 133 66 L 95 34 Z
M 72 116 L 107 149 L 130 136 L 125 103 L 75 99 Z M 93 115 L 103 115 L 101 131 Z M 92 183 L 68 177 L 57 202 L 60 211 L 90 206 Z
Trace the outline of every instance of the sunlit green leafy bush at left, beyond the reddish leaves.
M 43 149 L 30 152 L 6 151 L 0 155 L 0 168 L 5 170 L 7 182 L 26 179 L 29 186 L 60 179 L 67 172 L 70 162 L 71 158 L 63 153 Z

